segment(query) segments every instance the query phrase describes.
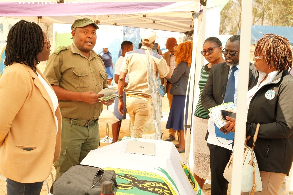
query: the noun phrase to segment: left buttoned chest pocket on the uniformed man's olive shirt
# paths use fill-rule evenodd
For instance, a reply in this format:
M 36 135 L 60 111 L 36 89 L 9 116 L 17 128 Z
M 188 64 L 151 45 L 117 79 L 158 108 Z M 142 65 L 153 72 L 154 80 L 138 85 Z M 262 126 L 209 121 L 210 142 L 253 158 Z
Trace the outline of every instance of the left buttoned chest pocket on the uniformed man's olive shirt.
M 87 88 L 90 83 L 87 69 L 72 69 L 73 86 L 77 88 Z

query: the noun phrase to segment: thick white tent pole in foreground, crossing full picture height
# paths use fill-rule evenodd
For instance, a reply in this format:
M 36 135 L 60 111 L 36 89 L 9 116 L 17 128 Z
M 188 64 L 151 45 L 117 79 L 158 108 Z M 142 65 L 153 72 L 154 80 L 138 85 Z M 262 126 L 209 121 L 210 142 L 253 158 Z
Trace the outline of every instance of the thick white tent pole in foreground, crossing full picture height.
M 241 38 L 239 57 L 239 82 L 237 95 L 237 114 L 234 137 L 234 159 L 231 194 L 240 194 L 242 183 L 243 152 L 246 130 L 246 101 L 249 77 L 249 55 L 252 20 L 252 0 L 242 0 Z M 245 13 L 245 14 L 244 14 Z M 245 178 L 243 178 L 245 179 Z

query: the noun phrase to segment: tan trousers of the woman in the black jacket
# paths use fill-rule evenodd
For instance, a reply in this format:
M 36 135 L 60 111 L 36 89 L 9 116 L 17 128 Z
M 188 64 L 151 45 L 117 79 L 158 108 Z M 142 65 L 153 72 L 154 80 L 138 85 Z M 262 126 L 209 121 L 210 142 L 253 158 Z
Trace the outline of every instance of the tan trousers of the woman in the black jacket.
M 284 173 L 273 173 L 260 171 L 262 179 L 262 191 L 255 192 L 255 195 L 279 195 L 282 183 L 285 179 Z M 241 192 L 242 195 L 249 195 L 250 192 Z

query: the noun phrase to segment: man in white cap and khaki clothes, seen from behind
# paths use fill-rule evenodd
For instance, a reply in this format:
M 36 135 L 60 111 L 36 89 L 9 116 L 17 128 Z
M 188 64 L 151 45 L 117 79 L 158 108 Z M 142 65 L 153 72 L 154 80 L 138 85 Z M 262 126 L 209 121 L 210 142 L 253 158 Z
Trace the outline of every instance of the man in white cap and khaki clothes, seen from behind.
M 150 54 L 150 64 L 154 64 L 154 72 L 161 78 L 171 78 L 171 70 L 164 58 L 152 52 L 155 44 L 156 33 L 152 29 L 142 32 L 140 49 L 125 54 L 118 81 L 118 94 L 122 96 L 125 76 L 128 73 L 129 83 L 125 88 L 126 108 L 132 124 L 132 137 L 142 138 L 142 133 L 149 120 L 152 109 L 151 93 L 147 80 L 146 51 Z M 118 99 L 118 110 L 123 115 L 124 103 Z

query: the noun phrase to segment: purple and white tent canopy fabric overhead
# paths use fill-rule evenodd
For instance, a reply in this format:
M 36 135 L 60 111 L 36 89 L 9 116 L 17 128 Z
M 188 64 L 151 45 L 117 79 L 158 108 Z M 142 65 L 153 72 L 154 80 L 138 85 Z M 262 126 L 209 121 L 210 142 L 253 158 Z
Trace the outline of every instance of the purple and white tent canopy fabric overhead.
M 192 13 L 200 9 L 199 0 L 64 1 L 60 4 L 56 0 L 0 2 L 0 16 L 70 24 L 78 18 L 90 18 L 100 25 L 186 32 L 194 26 Z M 223 1 L 226 0 L 208 0 L 207 7 L 220 6 Z

